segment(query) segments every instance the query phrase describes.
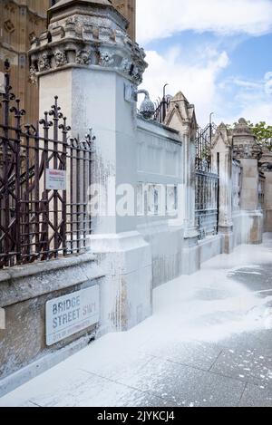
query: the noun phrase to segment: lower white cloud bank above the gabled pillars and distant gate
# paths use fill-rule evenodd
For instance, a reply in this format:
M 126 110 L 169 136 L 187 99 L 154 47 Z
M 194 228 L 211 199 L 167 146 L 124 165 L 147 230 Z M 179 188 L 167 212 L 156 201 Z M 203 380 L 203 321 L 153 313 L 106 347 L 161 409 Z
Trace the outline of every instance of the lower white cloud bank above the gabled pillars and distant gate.
M 215 112 L 217 123 L 232 123 L 240 117 L 253 122 L 272 122 L 272 72 L 267 72 L 260 81 L 241 77 L 222 80 L 221 73 L 229 64 L 226 52 L 206 48 L 195 58 L 194 62 L 184 61 L 179 47 L 163 55 L 148 51 L 150 66 L 144 73 L 142 88 L 156 101 L 168 82 L 168 93 L 181 91 L 195 104 L 200 126 L 207 124 L 210 112 Z

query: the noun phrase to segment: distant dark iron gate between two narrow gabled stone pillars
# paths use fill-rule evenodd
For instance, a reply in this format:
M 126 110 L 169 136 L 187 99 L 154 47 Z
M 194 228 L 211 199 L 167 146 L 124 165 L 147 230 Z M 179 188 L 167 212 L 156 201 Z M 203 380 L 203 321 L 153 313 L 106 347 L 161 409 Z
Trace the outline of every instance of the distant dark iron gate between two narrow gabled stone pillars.
M 196 226 L 201 239 L 219 231 L 219 169 L 213 169 L 211 158 L 214 130 L 209 124 L 196 139 Z

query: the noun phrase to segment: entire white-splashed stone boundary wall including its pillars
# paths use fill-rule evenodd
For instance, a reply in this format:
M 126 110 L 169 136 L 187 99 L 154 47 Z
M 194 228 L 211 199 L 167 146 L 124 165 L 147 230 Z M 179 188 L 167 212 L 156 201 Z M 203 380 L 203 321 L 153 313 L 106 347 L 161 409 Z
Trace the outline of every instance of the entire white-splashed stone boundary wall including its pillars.
M 41 112 L 50 110 L 58 96 L 70 136 L 81 139 L 91 127 L 96 136 L 92 182 L 99 201 L 88 239 L 94 257 L 0 271 L 0 307 L 6 315 L 6 330 L 0 331 L 2 391 L 33 376 L 35 368 L 41 371 L 41 364 L 52 365 L 44 359 L 54 353 L 60 359 L 65 347 L 93 333 L 91 327 L 47 347 L 47 301 L 97 284 L 98 334 L 127 331 L 152 314 L 154 287 L 196 272 L 201 263 L 240 243 L 262 239 L 260 150 L 247 122 L 240 120 L 234 131 L 222 124 L 213 140 L 220 175 L 219 235 L 199 241 L 194 106 L 179 92 L 170 101 L 166 125 L 137 116 L 145 53 L 131 42 L 127 21 L 112 2 L 62 2 L 50 18 L 52 39 L 45 32 L 32 44 L 31 76 L 39 83 Z M 232 159 L 243 169 L 235 208 Z M 116 206 L 131 200 L 132 213 L 119 214 Z M 13 379 L 13 373 L 21 374 Z

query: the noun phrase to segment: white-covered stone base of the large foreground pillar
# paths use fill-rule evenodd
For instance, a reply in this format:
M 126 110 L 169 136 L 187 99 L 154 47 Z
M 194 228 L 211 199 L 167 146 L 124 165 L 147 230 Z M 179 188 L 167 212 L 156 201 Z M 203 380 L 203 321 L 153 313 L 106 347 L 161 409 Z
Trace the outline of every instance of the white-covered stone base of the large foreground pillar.
M 128 331 L 152 313 L 151 246 L 138 232 L 92 235 L 89 246 L 105 271 L 102 332 Z

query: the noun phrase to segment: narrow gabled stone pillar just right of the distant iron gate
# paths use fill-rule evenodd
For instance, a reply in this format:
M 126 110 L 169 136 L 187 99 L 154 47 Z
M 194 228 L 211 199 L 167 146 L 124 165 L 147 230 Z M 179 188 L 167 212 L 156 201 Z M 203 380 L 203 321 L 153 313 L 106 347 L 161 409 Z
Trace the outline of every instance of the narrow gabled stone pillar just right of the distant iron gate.
M 211 143 L 212 168 L 219 172 L 219 233 L 224 235 L 224 253 L 233 250 L 232 136 L 221 123 Z

